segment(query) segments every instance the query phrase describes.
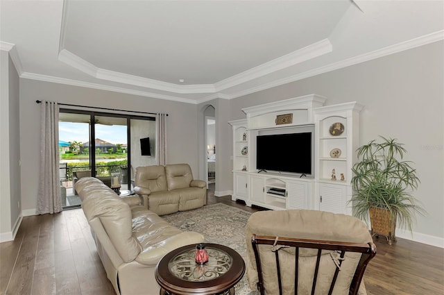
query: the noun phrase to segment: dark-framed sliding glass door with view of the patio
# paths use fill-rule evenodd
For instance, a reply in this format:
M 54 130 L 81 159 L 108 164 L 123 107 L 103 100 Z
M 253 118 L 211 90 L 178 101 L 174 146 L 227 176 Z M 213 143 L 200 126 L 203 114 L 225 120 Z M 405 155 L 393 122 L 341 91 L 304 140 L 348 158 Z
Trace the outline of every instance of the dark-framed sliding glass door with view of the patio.
M 136 167 L 156 163 L 155 130 L 154 117 L 60 110 L 63 207 L 80 206 L 74 185 L 85 176 L 99 178 L 118 194 L 130 192 Z

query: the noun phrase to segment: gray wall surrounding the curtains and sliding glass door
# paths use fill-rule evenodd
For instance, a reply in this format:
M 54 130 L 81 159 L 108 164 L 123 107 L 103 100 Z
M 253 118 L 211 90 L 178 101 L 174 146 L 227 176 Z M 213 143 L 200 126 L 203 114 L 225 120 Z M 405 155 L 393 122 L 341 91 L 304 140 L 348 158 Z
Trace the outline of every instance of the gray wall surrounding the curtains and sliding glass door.
M 166 112 L 168 117 L 168 162 L 189 163 L 197 173 L 196 106 L 189 103 L 94 90 L 28 79 L 20 80 L 20 136 L 22 138 L 22 202 L 25 215 L 37 204 L 40 158 L 40 108 L 35 100 L 58 101 L 82 106 L 119 110 Z

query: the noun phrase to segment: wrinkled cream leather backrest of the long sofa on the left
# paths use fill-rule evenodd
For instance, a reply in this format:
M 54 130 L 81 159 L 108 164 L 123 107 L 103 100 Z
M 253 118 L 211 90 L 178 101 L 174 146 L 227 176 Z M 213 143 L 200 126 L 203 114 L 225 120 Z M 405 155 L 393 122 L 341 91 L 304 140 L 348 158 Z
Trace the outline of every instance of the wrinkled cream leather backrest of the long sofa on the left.
M 129 205 L 97 178 L 81 178 L 76 183 L 76 189 L 83 199 L 82 208 L 87 221 L 100 219 L 123 262 L 135 260 L 142 246 L 133 236 Z

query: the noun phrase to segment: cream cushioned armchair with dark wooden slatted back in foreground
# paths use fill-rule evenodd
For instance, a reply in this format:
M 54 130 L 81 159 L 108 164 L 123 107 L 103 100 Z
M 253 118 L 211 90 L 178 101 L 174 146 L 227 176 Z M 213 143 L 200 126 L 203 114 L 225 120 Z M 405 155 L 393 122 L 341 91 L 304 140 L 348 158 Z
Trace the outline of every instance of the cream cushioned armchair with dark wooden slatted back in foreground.
M 247 277 L 260 294 L 366 294 L 376 247 L 366 225 L 315 210 L 255 212 L 246 226 Z M 279 262 L 279 263 L 278 263 Z

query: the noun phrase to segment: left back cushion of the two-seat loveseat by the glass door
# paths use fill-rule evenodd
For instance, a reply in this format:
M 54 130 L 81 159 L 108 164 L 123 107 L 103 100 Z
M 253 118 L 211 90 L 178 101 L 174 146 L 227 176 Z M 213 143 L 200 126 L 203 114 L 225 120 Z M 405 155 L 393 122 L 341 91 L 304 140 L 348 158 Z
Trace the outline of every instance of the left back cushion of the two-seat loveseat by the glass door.
M 151 192 L 166 191 L 167 178 L 162 165 L 142 166 L 136 168 L 135 183 L 147 187 Z

